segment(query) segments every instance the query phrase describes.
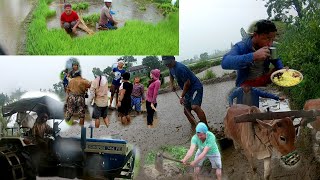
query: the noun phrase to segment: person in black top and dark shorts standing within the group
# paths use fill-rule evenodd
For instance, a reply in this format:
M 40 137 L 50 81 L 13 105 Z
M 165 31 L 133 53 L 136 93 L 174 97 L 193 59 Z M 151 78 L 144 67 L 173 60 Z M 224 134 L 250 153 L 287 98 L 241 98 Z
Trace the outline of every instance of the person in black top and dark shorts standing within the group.
M 121 118 L 121 123 L 127 125 L 131 122 L 129 111 L 131 109 L 131 94 L 133 85 L 129 82 L 130 73 L 122 74 L 122 84 L 119 90 L 118 112 Z

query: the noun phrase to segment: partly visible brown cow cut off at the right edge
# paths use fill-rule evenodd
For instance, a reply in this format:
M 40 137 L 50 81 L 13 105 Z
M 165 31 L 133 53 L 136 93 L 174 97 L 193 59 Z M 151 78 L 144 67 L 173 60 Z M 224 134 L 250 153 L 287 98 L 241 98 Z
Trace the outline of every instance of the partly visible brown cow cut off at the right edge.
M 313 110 L 317 109 L 320 110 L 320 99 L 310 99 L 306 101 L 304 104 L 303 110 Z M 310 125 L 315 131 L 320 131 L 320 117 L 318 116 L 316 120 L 314 121 L 313 119 L 305 119 L 303 118 L 301 121 L 302 125 L 307 125 L 307 123 L 310 122 Z

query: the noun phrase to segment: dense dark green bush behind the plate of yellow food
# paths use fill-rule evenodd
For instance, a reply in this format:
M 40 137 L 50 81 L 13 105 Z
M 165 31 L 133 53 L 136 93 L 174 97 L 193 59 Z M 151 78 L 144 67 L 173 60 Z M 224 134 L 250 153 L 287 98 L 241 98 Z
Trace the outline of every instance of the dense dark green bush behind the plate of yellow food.
M 304 80 L 284 91 L 291 97 L 294 108 L 301 109 L 308 99 L 320 97 L 320 10 L 318 13 L 297 19 L 288 25 L 278 45 L 285 65 L 301 71 Z

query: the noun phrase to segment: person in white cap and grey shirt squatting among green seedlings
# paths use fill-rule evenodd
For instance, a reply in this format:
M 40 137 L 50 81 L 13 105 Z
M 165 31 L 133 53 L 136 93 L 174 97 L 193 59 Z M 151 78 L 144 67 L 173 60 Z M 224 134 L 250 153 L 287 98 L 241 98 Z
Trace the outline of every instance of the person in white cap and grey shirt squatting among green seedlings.
M 112 0 L 104 0 L 105 6 L 101 9 L 99 29 L 117 29 L 117 22 L 113 19 L 111 15 L 111 4 Z

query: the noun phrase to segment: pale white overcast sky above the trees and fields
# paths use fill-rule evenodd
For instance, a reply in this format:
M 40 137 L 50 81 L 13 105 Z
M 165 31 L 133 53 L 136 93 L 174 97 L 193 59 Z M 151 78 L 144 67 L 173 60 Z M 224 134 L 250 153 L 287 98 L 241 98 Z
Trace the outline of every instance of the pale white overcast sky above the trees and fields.
M 240 28 L 267 18 L 262 0 L 180 0 L 179 61 L 203 52 L 225 50 L 241 40 Z M 119 56 L 81 56 L 83 76 L 93 79 L 92 68 L 112 65 Z M 69 56 L 0 57 L 0 92 L 52 88 Z M 143 57 L 136 57 L 140 62 Z

